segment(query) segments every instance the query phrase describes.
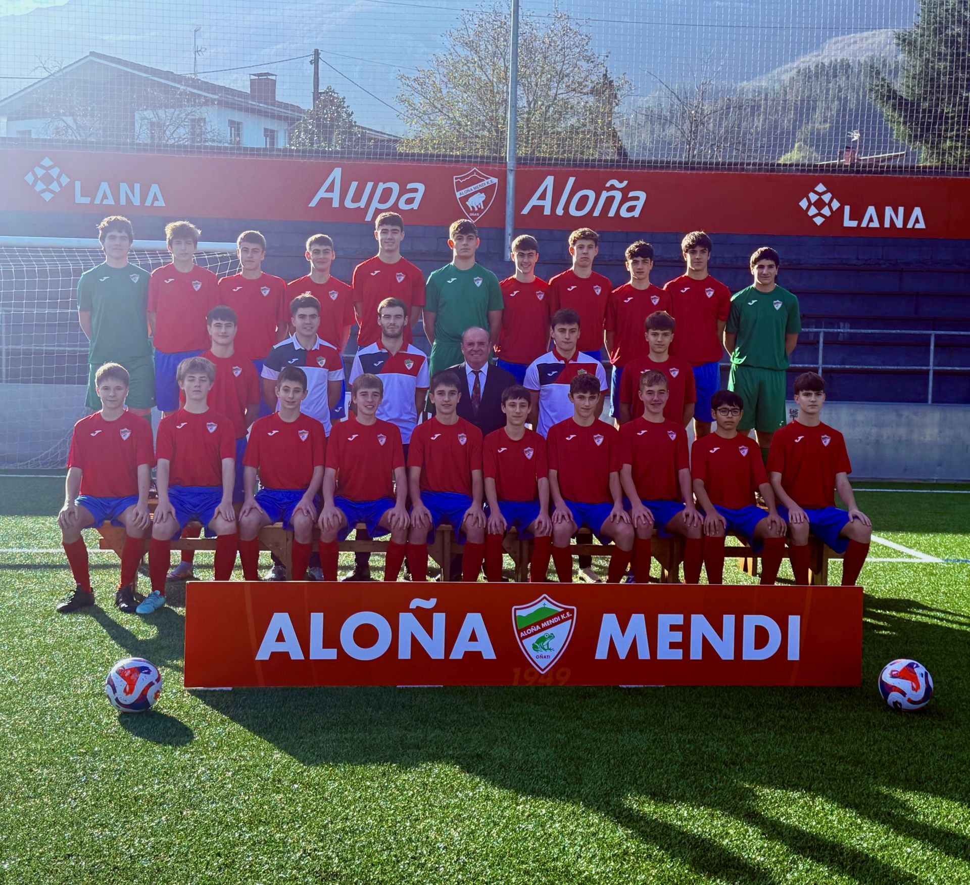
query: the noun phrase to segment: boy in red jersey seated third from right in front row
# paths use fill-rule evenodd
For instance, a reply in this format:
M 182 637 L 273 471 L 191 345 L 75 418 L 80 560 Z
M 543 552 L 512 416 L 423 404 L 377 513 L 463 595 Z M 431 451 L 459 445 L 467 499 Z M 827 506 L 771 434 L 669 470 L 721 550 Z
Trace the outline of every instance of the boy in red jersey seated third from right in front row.
M 684 580 L 700 580 L 703 555 L 703 518 L 694 507 L 687 434 L 683 425 L 663 415 L 667 379 L 651 370 L 640 376 L 637 398 L 643 415 L 620 428 L 623 468 L 620 484 L 630 502 L 633 541 L 633 579 L 650 581 L 650 547 L 654 527 L 661 538 L 681 535 L 684 541 Z M 676 575 L 674 576 L 676 580 Z

